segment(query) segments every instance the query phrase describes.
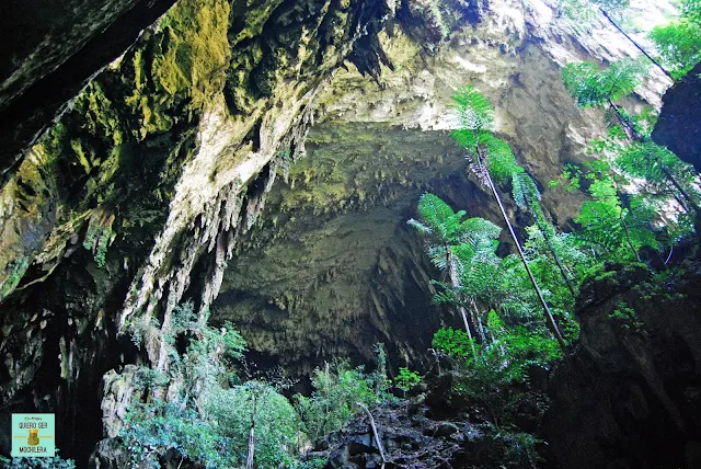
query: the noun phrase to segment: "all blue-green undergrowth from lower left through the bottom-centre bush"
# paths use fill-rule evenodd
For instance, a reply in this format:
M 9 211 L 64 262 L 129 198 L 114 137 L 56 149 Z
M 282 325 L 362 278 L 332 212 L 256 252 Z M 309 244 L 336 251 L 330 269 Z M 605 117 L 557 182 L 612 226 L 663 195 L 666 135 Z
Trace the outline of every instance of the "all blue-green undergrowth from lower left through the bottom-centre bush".
M 166 327 L 129 324 L 135 344 L 160 339 L 170 357 L 168 369 L 141 367 L 136 376 L 146 398 L 128 407 L 118 436 L 131 467 L 161 467 L 166 458 L 206 468 L 312 467 L 300 460 L 302 448 L 341 428 L 359 405 L 372 409 L 391 398 L 381 345 L 374 371 L 335 361 L 314 371 L 311 396 L 288 399 L 289 379 L 252 374 L 241 335 L 230 323 L 216 329 L 207 319 L 187 302 Z

